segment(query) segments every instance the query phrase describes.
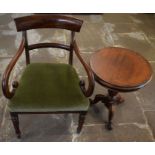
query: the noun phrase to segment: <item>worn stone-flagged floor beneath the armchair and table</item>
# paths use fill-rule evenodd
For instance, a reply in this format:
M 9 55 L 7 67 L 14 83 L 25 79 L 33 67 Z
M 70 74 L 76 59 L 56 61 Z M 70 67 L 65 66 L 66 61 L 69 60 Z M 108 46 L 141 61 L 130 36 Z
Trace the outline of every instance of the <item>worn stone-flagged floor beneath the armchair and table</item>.
M 16 32 L 13 19 L 26 14 L 0 14 L 0 78 L 16 53 L 21 34 Z M 81 32 L 76 35 L 81 55 L 86 62 L 103 47 L 115 46 L 132 49 L 143 55 L 155 71 L 155 15 L 154 14 L 96 14 L 70 15 L 84 20 Z M 62 35 L 63 32 L 63 35 Z M 69 42 L 70 33 L 65 30 L 31 30 L 30 43 L 59 41 Z M 32 62 L 67 63 L 64 50 L 47 49 L 31 52 Z M 86 79 L 84 69 L 74 58 L 74 66 L 81 78 Z M 12 77 L 20 78 L 25 67 L 22 55 Z M 96 84 L 94 94 L 106 93 Z M 76 134 L 76 114 L 20 115 L 22 138 L 16 138 L 7 110 L 7 100 L 0 89 L 0 141 L 155 141 L 155 77 L 143 89 L 122 94 L 125 103 L 116 106 L 114 129 L 107 131 L 107 109 L 98 103 L 89 109 L 81 134 Z

